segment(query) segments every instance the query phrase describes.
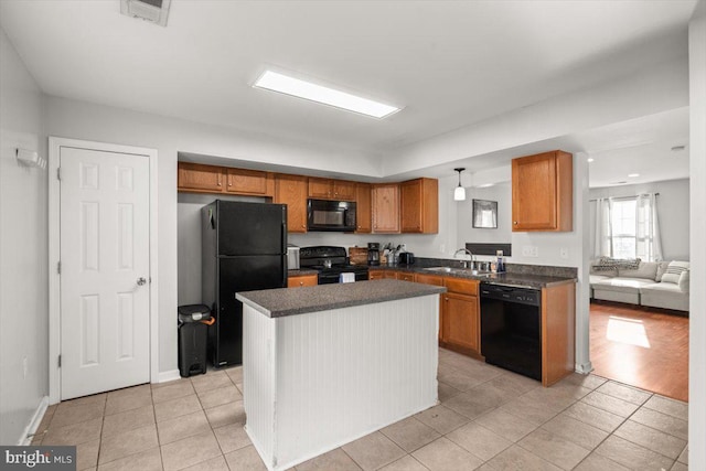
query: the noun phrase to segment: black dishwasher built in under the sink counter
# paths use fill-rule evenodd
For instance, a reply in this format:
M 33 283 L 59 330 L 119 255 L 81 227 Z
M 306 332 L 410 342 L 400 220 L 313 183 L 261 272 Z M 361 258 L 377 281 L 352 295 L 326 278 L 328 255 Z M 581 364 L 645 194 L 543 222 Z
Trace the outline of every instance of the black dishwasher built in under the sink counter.
M 531 288 L 481 282 L 485 362 L 542 381 L 542 296 Z

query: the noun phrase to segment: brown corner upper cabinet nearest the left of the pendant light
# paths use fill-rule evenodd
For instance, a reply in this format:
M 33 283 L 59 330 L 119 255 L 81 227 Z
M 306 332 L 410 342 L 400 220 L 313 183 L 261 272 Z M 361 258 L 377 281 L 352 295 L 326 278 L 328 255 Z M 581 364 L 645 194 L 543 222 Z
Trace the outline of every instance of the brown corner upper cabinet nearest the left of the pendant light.
M 436 179 L 409 180 L 399 184 L 403 233 L 439 232 L 439 182 Z

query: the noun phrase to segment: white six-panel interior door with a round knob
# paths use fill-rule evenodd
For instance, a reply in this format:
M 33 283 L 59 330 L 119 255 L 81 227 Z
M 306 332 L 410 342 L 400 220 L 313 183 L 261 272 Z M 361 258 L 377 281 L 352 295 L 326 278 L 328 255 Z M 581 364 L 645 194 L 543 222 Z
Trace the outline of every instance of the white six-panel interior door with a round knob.
M 149 159 L 62 147 L 61 399 L 150 381 Z

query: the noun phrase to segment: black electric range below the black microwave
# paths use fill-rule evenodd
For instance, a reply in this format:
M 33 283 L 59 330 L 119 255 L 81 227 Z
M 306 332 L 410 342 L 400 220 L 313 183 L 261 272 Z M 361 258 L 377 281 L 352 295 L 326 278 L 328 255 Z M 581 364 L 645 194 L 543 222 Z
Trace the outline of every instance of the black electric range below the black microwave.
M 299 266 L 319 271 L 319 285 L 341 282 L 341 274 L 353 274 L 355 281 L 368 279 L 367 265 L 351 265 L 344 247 L 301 247 Z

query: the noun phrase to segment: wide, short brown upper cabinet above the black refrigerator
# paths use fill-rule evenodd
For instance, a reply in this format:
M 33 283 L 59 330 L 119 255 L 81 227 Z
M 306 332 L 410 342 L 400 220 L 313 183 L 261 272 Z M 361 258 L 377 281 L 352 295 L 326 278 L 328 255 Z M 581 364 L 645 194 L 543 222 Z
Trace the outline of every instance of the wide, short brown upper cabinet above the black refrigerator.
M 275 194 L 272 173 L 189 162 L 179 162 L 176 185 L 179 191 L 192 193 Z

